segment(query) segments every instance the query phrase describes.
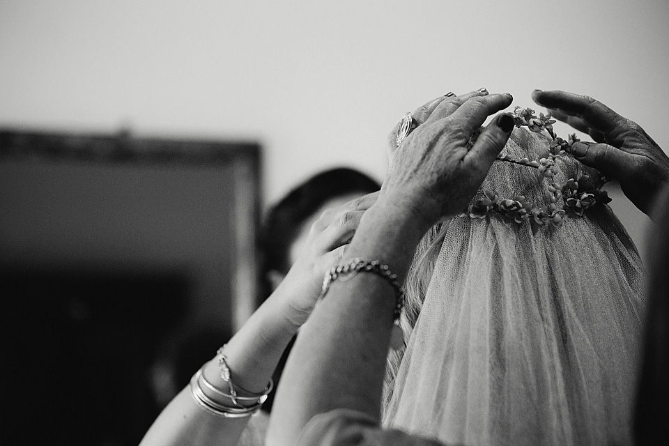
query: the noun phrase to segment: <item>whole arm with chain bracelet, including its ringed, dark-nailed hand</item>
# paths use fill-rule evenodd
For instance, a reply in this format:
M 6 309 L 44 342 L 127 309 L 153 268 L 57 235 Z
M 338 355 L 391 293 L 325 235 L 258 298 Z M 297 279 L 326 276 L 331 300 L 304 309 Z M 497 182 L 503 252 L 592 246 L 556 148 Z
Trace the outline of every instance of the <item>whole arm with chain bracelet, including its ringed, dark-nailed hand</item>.
M 446 99 L 428 105 L 429 116 L 392 154 L 379 197 L 362 216 L 341 263 L 378 260 L 403 282 L 424 233 L 459 213 L 475 194 L 509 138 L 513 118 L 496 116 L 468 148 L 472 133 L 511 102 L 511 95 L 490 94 L 472 95 L 459 107 Z M 394 305 L 392 288 L 376 275 L 332 283 L 286 364 L 268 445 L 297 444 L 305 424 L 328 410 L 359 410 L 378 420 Z

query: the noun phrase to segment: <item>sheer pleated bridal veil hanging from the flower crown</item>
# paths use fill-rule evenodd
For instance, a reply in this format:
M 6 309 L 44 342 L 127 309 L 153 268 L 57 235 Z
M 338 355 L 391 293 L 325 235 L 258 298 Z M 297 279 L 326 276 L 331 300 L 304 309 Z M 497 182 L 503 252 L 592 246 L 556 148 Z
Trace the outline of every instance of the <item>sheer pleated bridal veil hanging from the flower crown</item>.
M 515 129 L 502 155 L 539 160 L 550 141 Z M 495 161 L 482 189 L 543 206 L 548 185 L 597 174 L 568 153 L 555 163 L 551 179 Z M 608 206 L 558 227 L 531 220 L 447 224 L 386 390 L 385 426 L 449 444 L 631 443 L 644 291 L 636 247 Z

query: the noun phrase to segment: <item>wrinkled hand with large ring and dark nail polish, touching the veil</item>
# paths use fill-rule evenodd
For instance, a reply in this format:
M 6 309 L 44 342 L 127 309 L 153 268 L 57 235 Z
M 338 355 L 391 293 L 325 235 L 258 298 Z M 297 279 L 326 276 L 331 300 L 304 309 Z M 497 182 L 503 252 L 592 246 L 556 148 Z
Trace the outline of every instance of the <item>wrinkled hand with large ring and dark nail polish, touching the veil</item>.
M 508 93 L 477 91 L 458 98 L 439 98 L 417 109 L 421 124 L 399 147 L 391 146 L 382 194 L 426 225 L 461 213 L 509 139 L 513 116 L 495 116 L 472 148 L 468 148 L 468 141 L 488 116 L 509 107 L 512 100 Z M 397 127 L 390 134 L 389 146 L 396 132 Z

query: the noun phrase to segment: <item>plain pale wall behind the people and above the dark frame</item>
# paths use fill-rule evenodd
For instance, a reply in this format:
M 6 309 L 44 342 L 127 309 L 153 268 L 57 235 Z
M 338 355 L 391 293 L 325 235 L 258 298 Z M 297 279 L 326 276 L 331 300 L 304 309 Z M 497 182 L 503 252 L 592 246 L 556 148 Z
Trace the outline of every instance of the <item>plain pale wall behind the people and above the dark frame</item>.
M 482 86 L 592 95 L 666 150 L 668 22 L 666 0 L 0 0 L 0 125 L 259 141 L 264 206 L 337 164 L 382 179 L 404 112 Z

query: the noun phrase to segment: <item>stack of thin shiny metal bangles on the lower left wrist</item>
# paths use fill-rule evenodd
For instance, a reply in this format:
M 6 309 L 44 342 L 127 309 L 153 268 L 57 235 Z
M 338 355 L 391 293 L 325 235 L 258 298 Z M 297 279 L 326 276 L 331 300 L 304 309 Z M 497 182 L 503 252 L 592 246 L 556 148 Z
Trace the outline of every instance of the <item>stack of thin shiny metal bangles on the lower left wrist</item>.
M 261 408 L 261 406 L 267 399 L 267 395 L 272 391 L 274 383 L 270 379 L 270 382 L 268 383 L 267 387 L 260 394 L 247 392 L 246 390 L 243 390 L 242 388 L 233 385 L 232 378 L 230 376 L 230 369 L 227 366 L 226 357 L 223 356 L 222 351 L 223 347 L 220 348 L 219 351 L 217 352 L 217 357 L 219 358 L 218 364 L 219 367 L 221 368 L 222 378 L 226 380 L 226 382 L 229 385 L 229 392 L 225 392 L 224 390 L 219 389 L 206 379 L 203 373 L 203 369 L 206 367 L 205 364 L 192 376 L 190 380 L 191 394 L 195 399 L 195 401 L 199 404 L 199 406 L 207 410 L 209 413 L 212 413 L 213 415 L 227 418 L 249 417 L 254 413 L 256 413 Z M 203 386 L 207 387 L 208 390 L 210 390 L 210 392 L 213 392 L 214 394 L 218 394 L 222 397 L 225 397 L 226 399 L 231 399 L 234 406 L 231 407 L 224 403 L 220 403 L 219 401 L 215 401 L 215 399 L 212 399 L 212 397 L 210 397 L 206 392 L 203 391 Z M 235 387 L 237 387 L 237 389 Z M 240 397 L 238 395 L 237 390 L 240 390 L 241 392 L 244 392 L 247 395 Z M 246 403 L 251 402 L 251 403 L 247 406 L 244 404 L 240 404 L 240 401 Z

